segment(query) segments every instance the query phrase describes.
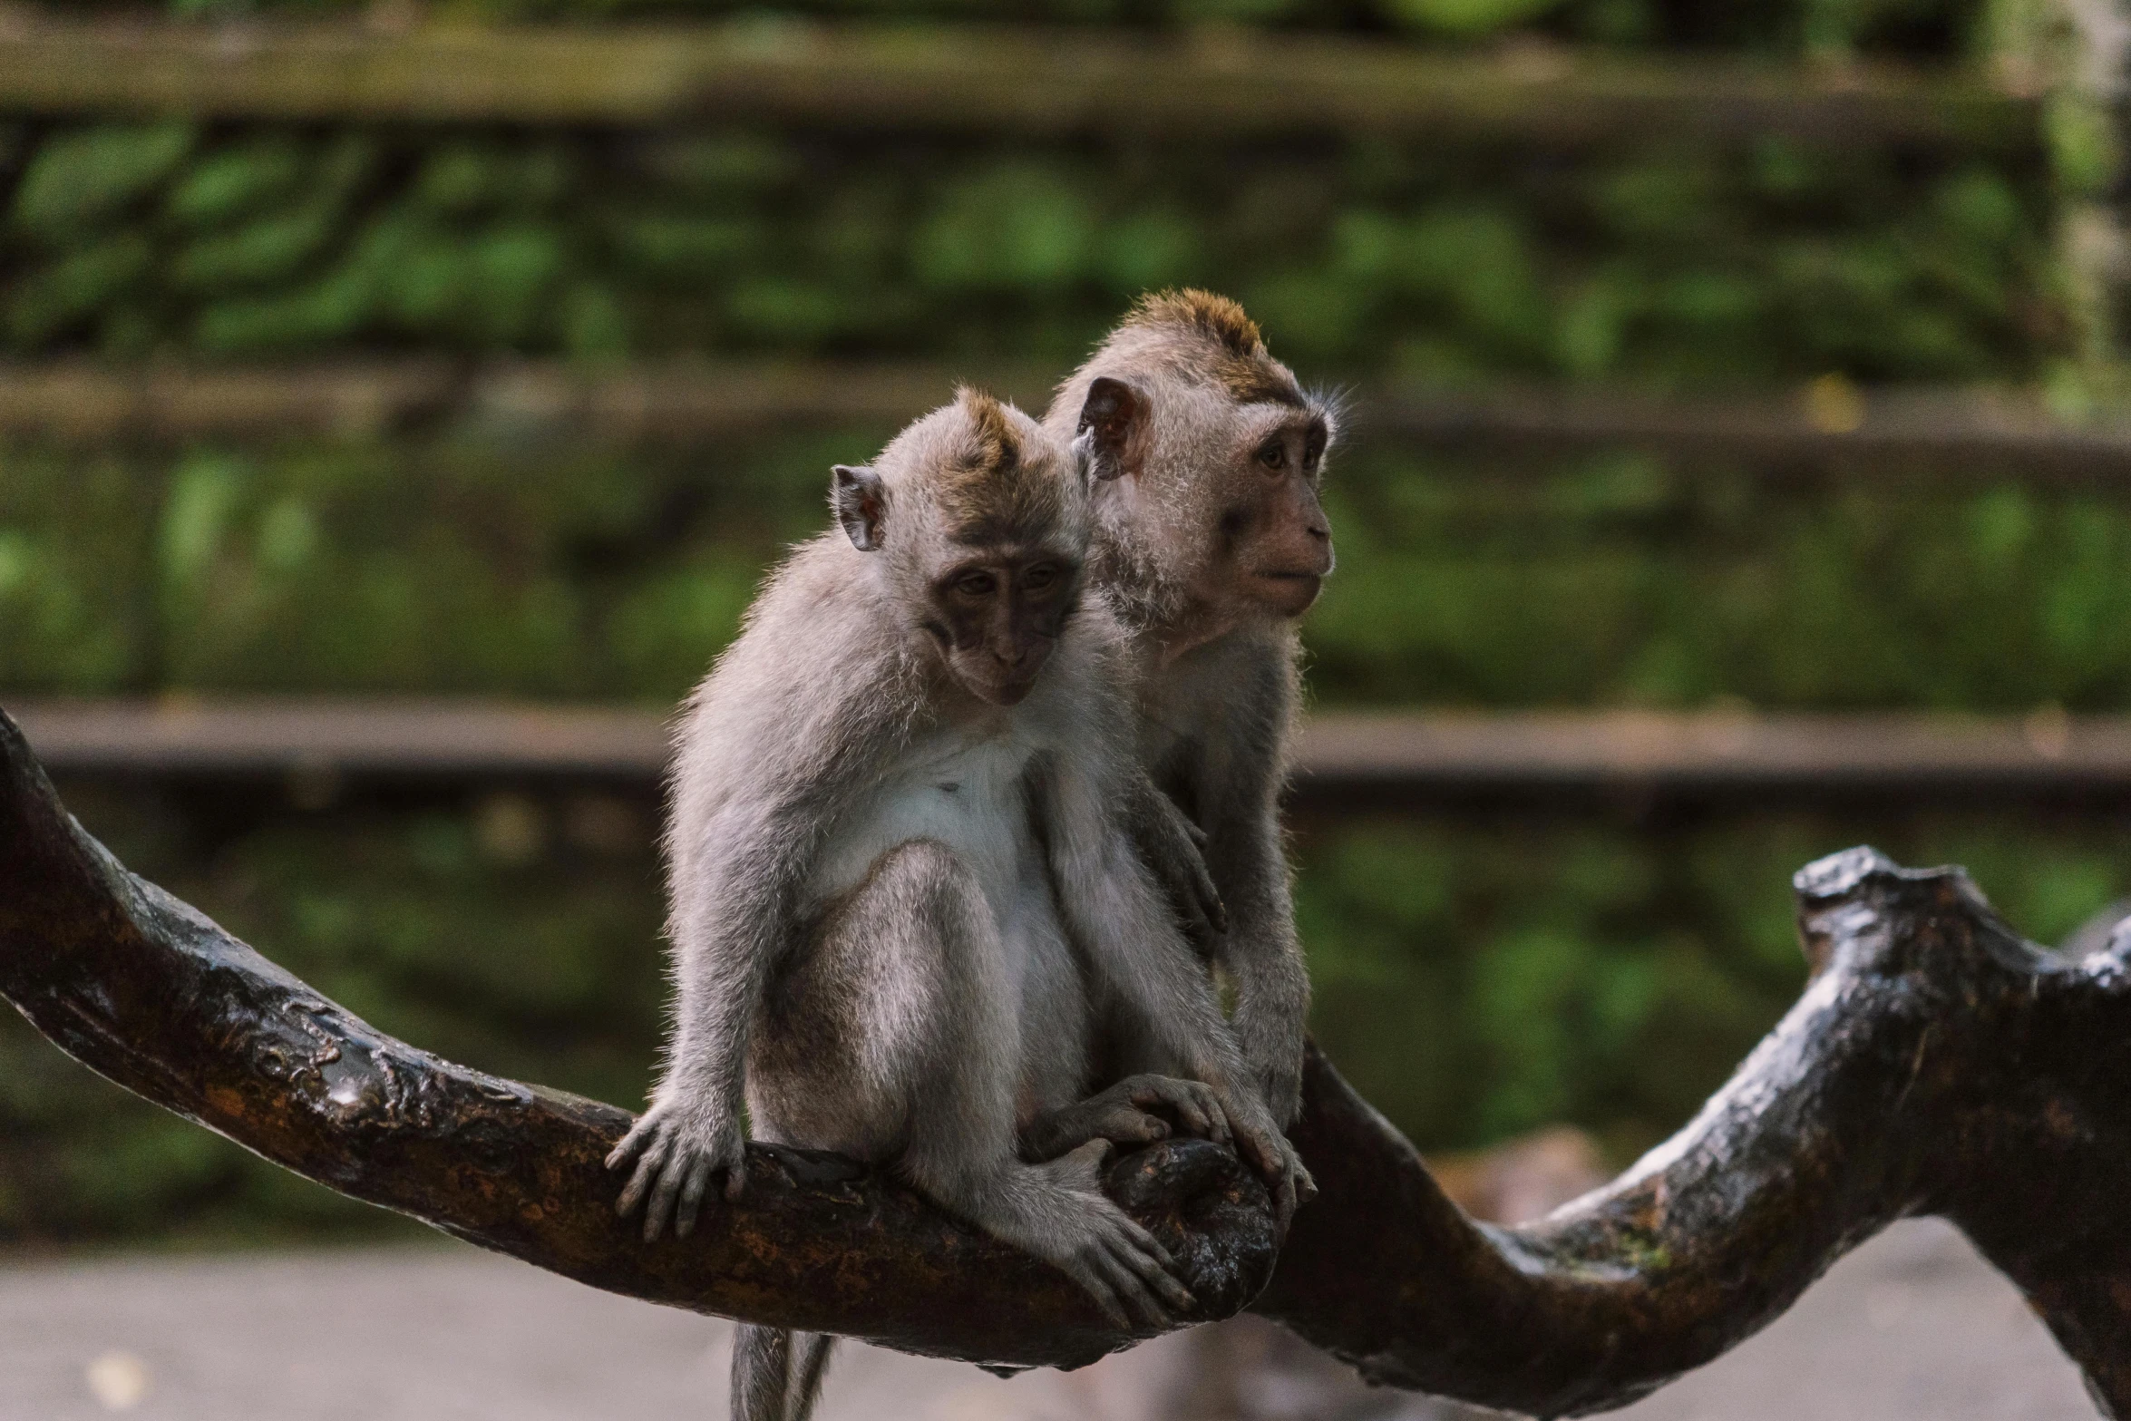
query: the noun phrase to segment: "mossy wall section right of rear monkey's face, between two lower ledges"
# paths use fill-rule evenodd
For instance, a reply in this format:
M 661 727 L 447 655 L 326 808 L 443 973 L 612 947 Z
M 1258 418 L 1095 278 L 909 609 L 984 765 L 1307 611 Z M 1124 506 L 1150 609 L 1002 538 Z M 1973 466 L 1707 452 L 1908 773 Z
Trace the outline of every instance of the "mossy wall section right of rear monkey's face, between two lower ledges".
M 2131 705 L 2131 509 L 2020 484 L 1784 490 L 1357 452 L 1311 614 L 1330 703 Z

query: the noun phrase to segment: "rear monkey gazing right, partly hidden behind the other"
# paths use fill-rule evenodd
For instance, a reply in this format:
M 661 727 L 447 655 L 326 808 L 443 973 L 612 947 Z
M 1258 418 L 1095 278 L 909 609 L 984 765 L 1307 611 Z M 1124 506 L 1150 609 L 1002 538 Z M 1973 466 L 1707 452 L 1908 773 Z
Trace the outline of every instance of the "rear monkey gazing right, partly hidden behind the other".
M 1059 386 L 1044 428 L 1089 437 L 1108 475 L 1089 573 L 1140 663 L 1142 761 L 1204 833 L 1227 908 L 1213 961 L 1285 1129 L 1302 1104 L 1311 980 L 1279 793 L 1300 699 L 1296 620 L 1332 571 L 1317 484 L 1338 411 L 1272 358 L 1240 305 L 1185 290 L 1144 296 Z M 1155 854 L 1159 835 L 1146 839 Z

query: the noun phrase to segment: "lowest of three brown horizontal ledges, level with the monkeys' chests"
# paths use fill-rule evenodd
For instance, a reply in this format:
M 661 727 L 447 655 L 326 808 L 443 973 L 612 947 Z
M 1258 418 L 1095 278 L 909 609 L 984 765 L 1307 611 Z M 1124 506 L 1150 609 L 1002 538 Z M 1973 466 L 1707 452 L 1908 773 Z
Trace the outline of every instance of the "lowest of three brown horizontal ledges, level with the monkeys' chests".
M 629 780 L 665 771 L 656 709 L 416 699 L 40 701 L 0 695 L 60 775 Z M 2131 795 L 2131 718 L 1918 714 L 1313 716 L 1306 799 L 1628 793 L 1715 799 Z

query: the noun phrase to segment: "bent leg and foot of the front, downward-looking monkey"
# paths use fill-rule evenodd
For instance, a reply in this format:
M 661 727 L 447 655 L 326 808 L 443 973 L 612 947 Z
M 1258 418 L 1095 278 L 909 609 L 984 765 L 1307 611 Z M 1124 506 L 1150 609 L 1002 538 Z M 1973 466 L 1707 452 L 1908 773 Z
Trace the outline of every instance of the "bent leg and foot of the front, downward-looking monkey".
M 1023 1052 L 1006 944 L 953 850 L 918 839 L 882 854 L 793 986 L 812 1006 L 793 1008 L 793 1048 L 765 1052 L 784 1076 L 761 1091 L 776 1133 L 893 1157 L 936 1202 L 1061 1268 L 1119 1325 L 1129 1312 L 1164 1325 L 1164 1302 L 1191 1306 L 1161 1244 L 1104 1197 L 1108 1144 L 1042 1165 L 1016 1153 Z

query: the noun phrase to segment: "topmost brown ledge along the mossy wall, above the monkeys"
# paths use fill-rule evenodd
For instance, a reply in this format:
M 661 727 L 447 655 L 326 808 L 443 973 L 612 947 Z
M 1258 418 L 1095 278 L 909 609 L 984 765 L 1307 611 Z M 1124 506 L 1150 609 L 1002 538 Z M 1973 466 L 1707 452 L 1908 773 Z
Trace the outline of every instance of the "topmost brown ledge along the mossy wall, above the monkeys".
M 1409 45 L 733 21 L 690 28 L 62 21 L 9 13 L 0 113 L 1219 134 L 1649 132 L 1826 143 L 2035 141 L 2037 104 L 1973 72 Z

